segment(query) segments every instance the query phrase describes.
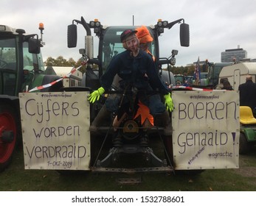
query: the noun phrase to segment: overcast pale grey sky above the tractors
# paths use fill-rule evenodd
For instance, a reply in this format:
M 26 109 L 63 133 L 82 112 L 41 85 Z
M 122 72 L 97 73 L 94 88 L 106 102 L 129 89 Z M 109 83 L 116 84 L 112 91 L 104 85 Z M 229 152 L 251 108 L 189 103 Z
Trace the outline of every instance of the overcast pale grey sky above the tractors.
M 73 19 L 86 22 L 97 18 L 102 25 L 155 25 L 158 19 L 176 21 L 184 18 L 190 25 L 190 46 L 181 47 L 179 24 L 159 37 L 160 57 L 170 57 L 172 49 L 179 51 L 176 66 L 198 60 L 221 62 L 226 49 L 247 51 L 256 58 L 256 1 L 255 0 L 1 0 L 0 24 L 40 34 L 44 23 L 44 61 L 47 57 L 63 56 L 66 60 L 80 58 L 78 49 L 84 48 L 86 30 L 78 25 L 77 47 L 67 47 L 67 26 Z M 94 53 L 98 38 L 94 35 Z M 97 57 L 97 54 L 94 54 Z

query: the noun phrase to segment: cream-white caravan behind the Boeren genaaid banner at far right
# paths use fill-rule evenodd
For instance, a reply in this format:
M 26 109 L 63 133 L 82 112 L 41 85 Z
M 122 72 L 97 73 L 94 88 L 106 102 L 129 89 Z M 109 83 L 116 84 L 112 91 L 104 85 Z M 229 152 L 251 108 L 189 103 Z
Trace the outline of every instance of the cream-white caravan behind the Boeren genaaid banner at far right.
M 218 77 L 220 79 L 227 78 L 234 90 L 238 90 L 239 85 L 246 82 L 246 76 L 252 75 L 252 81 L 255 82 L 256 63 L 236 63 L 222 68 Z

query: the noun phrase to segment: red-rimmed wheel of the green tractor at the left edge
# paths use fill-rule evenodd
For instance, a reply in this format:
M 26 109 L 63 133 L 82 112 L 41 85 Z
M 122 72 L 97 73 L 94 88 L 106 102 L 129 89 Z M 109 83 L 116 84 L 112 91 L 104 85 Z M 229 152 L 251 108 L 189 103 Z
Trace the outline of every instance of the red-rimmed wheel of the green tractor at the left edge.
M 18 117 L 14 108 L 0 103 L 0 171 L 4 171 L 15 151 L 18 134 Z

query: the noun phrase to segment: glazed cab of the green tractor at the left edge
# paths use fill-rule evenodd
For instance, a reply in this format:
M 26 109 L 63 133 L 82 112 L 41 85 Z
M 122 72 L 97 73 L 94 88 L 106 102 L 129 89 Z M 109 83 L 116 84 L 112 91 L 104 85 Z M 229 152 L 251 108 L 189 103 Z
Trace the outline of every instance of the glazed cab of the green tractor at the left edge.
M 36 36 L 36 38 L 34 38 Z M 18 96 L 30 85 L 30 73 L 44 71 L 37 35 L 27 35 L 23 29 L 0 26 L 1 94 Z

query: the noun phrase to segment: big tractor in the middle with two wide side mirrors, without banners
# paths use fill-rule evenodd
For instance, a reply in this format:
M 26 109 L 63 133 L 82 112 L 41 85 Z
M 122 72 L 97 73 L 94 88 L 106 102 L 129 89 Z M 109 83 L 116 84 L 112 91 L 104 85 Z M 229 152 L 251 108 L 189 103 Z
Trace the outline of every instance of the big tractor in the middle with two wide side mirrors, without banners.
M 125 48 L 122 46 L 122 42 L 120 41 L 120 35 L 125 29 L 136 29 L 136 27 L 139 26 L 103 26 L 100 21 L 97 19 L 94 21 L 89 21 L 87 23 L 83 17 L 81 17 L 80 20 L 73 20 L 72 24 L 68 26 L 68 47 L 73 48 L 77 46 L 77 25 L 81 24 L 84 29 L 86 29 L 86 37 L 85 37 L 85 49 L 80 49 L 80 54 L 83 55 L 83 58 L 87 60 L 87 67 L 86 72 L 83 75 L 82 85 L 85 88 L 88 88 L 89 90 L 95 90 L 100 87 L 100 77 L 105 73 L 108 64 L 111 62 L 111 59 L 115 57 L 115 55 L 120 54 L 122 51 L 125 51 Z M 175 65 L 176 63 L 176 54 L 178 54 L 177 50 L 172 50 L 170 57 L 159 57 L 159 36 L 165 31 L 165 29 L 171 29 L 175 24 L 180 24 L 180 43 L 181 46 L 189 46 L 190 44 L 190 38 L 189 38 L 189 25 L 184 24 L 184 19 L 179 19 L 173 22 L 168 21 L 162 21 L 159 20 L 155 26 L 147 26 L 148 31 L 150 32 L 153 42 L 149 45 L 149 50 L 151 51 L 151 54 L 153 54 L 153 57 L 155 57 L 155 62 L 157 65 L 157 69 L 159 72 L 159 78 L 161 81 L 167 85 L 172 86 L 176 85 L 174 75 L 172 72 L 162 69 L 162 65 L 167 65 L 167 68 L 170 68 L 171 65 Z M 94 58 L 94 52 L 93 52 L 93 37 L 91 35 L 91 29 L 94 29 L 95 35 L 99 38 L 99 47 L 98 47 L 98 53 L 95 55 L 97 58 Z M 95 69 L 95 65 L 98 69 Z M 111 91 L 114 93 L 118 90 L 118 78 L 114 79 Z M 110 91 L 110 92 L 111 92 Z M 111 93 L 109 93 L 111 94 Z M 131 99 L 136 99 L 136 97 L 132 96 Z M 103 107 L 103 103 L 105 102 L 105 99 L 100 99 L 99 102 L 96 102 L 95 104 L 91 105 L 91 112 L 90 112 L 90 118 L 91 121 L 94 120 L 94 118 L 105 118 L 103 122 L 101 122 L 100 127 L 97 127 L 97 132 L 100 133 L 101 136 L 105 136 L 105 139 L 103 140 L 103 144 L 106 145 L 105 142 L 108 142 L 109 140 L 109 133 L 111 133 L 111 125 L 110 124 L 113 119 L 109 115 L 103 115 L 100 113 L 100 109 Z M 130 102 L 131 103 L 131 102 Z M 131 103 L 131 105 L 136 105 L 134 102 Z M 134 108 L 134 107 L 131 107 Z M 107 120 L 106 120 L 107 118 Z M 159 122 L 156 123 L 157 128 L 151 129 L 153 134 L 157 137 L 160 133 L 163 132 L 163 129 L 159 129 L 159 127 L 162 128 L 162 121 L 161 118 L 159 118 Z M 139 128 L 139 129 L 138 129 Z M 112 148 L 108 154 L 106 154 L 105 158 L 103 160 L 99 160 L 97 157 L 101 154 L 99 151 L 100 147 L 103 147 L 103 144 L 95 143 L 96 140 L 99 140 L 100 138 L 95 138 L 94 134 L 91 133 L 91 152 L 96 154 L 92 154 L 92 156 L 95 156 L 91 158 L 91 166 L 93 166 L 92 170 L 94 171 L 109 171 L 108 167 L 110 165 L 115 165 L 117 160 L 120 159 L 120 156 L 122 154 L 143 154 L 141 156 L 145 157 L 145 162 L 149 165 L 153 166 L 153 170 L 157 171 L 166 171 L 169 169 L 167 166 L 167 162 L 170 163 L 172 160 L 170 160 L 169 156 L 172 152 L 172 149 L 164 148 L 163 151 L 166 152 L 167 161 L 166 159 L 162 160 L 159 157 L 156 157 L 156 155 L 153 153 L 153 150 L 149 147 L 142 147 L 137 143 L 137 140 L 139 137 L 143 136 L 142 127 L 139 123 L 134 121 L 133 118 L 127 118 L 125 119 L 120 128 L 120 133 L 122 133 L 122 139 L 124 141 L 124 144 L 122 148 Z M 108 132 L 109 131 L 109 132 Z M 162 137 L 162 135 L 160 135 Z M 111 138 L 110 138 L 111 139 Z M 170 141 L 171 138 L 166 138 L 164 141 Z M 97 145 L 97 146 L 96 146 Z M 101 145 L 101 146 L 98 146 Z M 170 145 L 170 142 L 165 143 L 165 145 Z M 164 145 L 164 146 L 165 146 Z M 146 148 L 146 149 L 145 149 Z M 103 155 L 104 156 L 104 155 Z M 128 155 L 129 156 L 129 155 Z M 137 156 L 136 156 L 137 157 Z M 140 156 L 139 156 L 140 157 Z M 139 158 L 135 158 L 138 159 Z M 124 161 L 121 161 L 124 162 Z M 143 161 L 142 161 L 143 162 Z M 139 168 L 132 168 L 131 170 L 122 170 L 122 171 L 141 171 L 142 165 L 139 162 Z M 104 169 L 103 169 L 104 168 Z M 151 167 L 147 169 L 147 171 L 151 171 Z M 119 169 L 115 168 L 112 171 L 120 171 Z

